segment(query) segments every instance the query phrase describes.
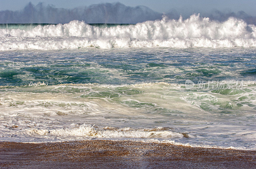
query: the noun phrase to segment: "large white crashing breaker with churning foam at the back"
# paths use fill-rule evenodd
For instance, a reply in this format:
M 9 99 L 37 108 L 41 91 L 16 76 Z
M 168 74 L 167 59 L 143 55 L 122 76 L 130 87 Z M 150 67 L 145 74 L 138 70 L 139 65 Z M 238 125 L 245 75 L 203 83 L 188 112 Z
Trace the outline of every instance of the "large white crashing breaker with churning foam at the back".
M 8 35 L 8 36 L 7 36 Z M 0 50 L 56 50 L 81 47 L 256 47 L 256 26 L 241 19 L 211 21 L 199 15 L 186 20 L 146 21 L 100 28 L 81 21 L 37 26 L 31 30 L 0 29 Z

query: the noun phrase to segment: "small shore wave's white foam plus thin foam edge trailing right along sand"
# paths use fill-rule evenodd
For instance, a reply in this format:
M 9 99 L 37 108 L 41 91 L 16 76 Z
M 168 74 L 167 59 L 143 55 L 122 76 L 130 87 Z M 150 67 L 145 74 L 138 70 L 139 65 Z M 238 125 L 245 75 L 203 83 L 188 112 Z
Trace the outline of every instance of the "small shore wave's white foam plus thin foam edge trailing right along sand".
M 234 146 L 217 146 L 217 145 L 207 145 L 207 144 L 190 144 L 190 143 L 180 143 L 172 139 L 178 139 L 183 137 L 193 138 L 192 135 L 187 133 L 177 133 L 168 130 L 167 128 L 157 127 L 152 129 L 133 129 L 127 128 L 115 128 L 115 127 L 95 127 L 91 124 L 82 124 L 79 127 L 74 128 L 61 128 L 56 130 L 45 130 L 29 128 L 27 130 L 21 131 L 24 135 L 39 137 L 41 142 L 43 138 L 49 139 L 50 137 L 57 137 L 58 140 L 53 142 L 58 142 L 60 140 L 91 140 L 91 139 L 107 139 L 107 140 L 130 140 L 139 142 L 150 142 L 150 143 L 170 143 L 173 145 L 183 145 L 189 147 L 202 147 L 202 148 L 221 148 L 221 149 L 236 149 L 236 150 L 255 150 L 255 147 L 245 148 L 245 147 L 234 147 Z M 62 139 L 65 138 L 65 139 Z M 49 141 L 49 140 L 48 140 Z M 31 141 L 29 141 L 31 143 Z M 44 141 L 43 141 L 44 142 Z M 35 142 L 35 143 L 38 143 Z

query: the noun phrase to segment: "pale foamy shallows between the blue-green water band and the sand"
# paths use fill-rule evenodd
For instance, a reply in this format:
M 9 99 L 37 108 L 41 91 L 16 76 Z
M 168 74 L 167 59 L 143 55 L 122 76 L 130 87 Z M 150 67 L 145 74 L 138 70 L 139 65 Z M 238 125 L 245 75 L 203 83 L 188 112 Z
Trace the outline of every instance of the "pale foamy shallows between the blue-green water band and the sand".
M 1 141 L 154 138 L 182 145 L 255 149 L 255 81 L 244 81 L 246 91 L 235 95 L 212 89 L 185 91 L 182 84 L 165 82 L 41 84 L 0 88 Z M 115 97 L 109 97 L 112 94 Z

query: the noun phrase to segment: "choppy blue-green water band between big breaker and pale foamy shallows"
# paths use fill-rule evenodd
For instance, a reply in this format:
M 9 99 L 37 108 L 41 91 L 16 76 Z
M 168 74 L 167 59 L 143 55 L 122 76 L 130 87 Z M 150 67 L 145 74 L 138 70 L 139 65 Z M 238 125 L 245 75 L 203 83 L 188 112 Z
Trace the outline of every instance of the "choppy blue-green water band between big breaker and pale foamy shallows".
M 254 81 L 255 50 L 88 49 L 0 52 L 0 85 L 44 82 L 110 85 L 198 81 Z

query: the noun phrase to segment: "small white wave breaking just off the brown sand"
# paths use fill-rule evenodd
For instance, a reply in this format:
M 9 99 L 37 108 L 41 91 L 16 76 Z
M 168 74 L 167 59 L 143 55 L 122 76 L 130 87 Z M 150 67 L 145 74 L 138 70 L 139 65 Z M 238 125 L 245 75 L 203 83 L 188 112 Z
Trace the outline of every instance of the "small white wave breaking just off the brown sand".
M 115 127 L 103 127 L 98 128 L 90 124 L 82 124 L 76 128 L 65 128 L 56 130 L 38 130 L 30 128 L 25 130 L 25 133 L 29 135 L 58 135 L 58 136 L 70 136 L 70 137 L 98 137 L 98 138 L 117 138 L 117 137 L 135 137 L 135 138 L 154 138 L 154 137 L 189 137 L 185 133 L 176 133 L 169 131 L 168 128 L 157 127 L 153 129 L 132 129 L 127 128 L 115 128 Z

